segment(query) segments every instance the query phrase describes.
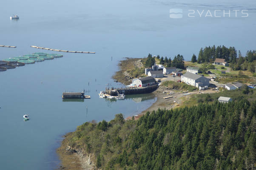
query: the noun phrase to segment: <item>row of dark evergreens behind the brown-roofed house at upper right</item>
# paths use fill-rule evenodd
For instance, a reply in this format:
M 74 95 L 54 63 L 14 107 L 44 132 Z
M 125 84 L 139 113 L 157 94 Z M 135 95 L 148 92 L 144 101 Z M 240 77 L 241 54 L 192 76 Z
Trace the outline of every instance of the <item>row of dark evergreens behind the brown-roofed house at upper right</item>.
M 256 51 L 247 51 L 246 56 L 243 57 L 241 52 L 236 51 L 236 48 L 230 47 L 227 48 L 224 45 L 217 46 L 213 45 L 212 47 L 201 48 L 196 59 L 196 56 L 193 54 L 191 62 L 204 63 L 204 62 L 214 62 L 216 58 L 225 59 L 226 62 L 229 62 L 230 67 L 233 70 L 249 70 L 250 72 L 255 72 L 256 65 Z

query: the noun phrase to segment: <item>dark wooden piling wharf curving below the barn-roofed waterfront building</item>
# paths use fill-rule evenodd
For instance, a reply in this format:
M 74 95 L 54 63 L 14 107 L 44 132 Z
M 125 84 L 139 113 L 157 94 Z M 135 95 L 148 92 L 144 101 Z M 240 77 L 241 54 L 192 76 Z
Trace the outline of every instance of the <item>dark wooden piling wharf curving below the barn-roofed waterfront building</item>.
M 141 88 L 106 88 L 105 93 L 110 96 L 118 96 L 119 94 L 145 94 L 151 93 L 156 90 L 158 85 L 151 85 L 148 87 L 141 87 Z

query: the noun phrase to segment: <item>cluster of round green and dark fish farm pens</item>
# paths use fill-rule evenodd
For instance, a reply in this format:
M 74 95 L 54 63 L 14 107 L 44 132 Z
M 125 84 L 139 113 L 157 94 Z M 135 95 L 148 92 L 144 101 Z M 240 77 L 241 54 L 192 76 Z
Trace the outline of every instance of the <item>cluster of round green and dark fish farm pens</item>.
M 48 59 L 63 57 L 62 54 L 47 54 L 47 53 L 33 53 L 26 54 L 19 57 L 13 57 L 0 60 L 0 71 L 6 71 L 11 68 L 24 66 L 26 64 L 33 64 L 35 62 L 42 62 Z

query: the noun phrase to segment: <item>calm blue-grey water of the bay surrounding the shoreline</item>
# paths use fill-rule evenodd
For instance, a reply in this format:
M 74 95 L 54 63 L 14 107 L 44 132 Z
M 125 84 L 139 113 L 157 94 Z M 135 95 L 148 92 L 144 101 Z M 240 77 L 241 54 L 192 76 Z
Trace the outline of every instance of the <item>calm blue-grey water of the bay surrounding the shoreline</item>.
M 0 169 L 4 170 L 54 169 L 59 164 L 55 149 L 66 132 L 86 121 L 111 120 L 117 113 L 131 116 L 152 105 L 154 96 L 131 96 L 117 102 L 98 97 L 108 83 L 121 86 L 111 76 L 123 57 L 152 53 L 171 58 L 183 54 L 191 59 L 201 47 L 213 44 L 235 46 L 242 54 L 256 47 L 254 0 L 196 0 L 193 4 L 188 0 L 10 0 L 1 6 L 0 44 L 17 48 L 0 48 L 0 59 L 52 53 L 30 45 L 96 52 L 60 53 L 63 58 L 0 72 Z M 171 8 L 182 8 L 183 18 L 171 19 Z M 189 9 L 205 10 L 202 16 L 207 10 L 214 14 L 216 9 L 238 9 L 240 13 L 218 18 L 196 13 L 192 18 Z M 248 17 L 241 17 L 244 9 L 249 10 Z M 18 14 L 20 20 L 9 20 L 12 14 Z M 61 99 L 63 91 L 82 89 L 90 91 L 91 99 Z M 24 122 L 24 113 L 31 120 Z

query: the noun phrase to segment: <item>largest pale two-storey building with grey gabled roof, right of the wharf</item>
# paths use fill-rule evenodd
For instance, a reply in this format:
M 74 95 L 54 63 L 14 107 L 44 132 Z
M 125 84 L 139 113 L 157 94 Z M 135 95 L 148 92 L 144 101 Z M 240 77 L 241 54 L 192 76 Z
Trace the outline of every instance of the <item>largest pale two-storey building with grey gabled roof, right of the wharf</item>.
M 186 73 L 181 76 L 181 81 L 188 85 L 199 87 L 209 86 L 209 79 L 198 74 Z

